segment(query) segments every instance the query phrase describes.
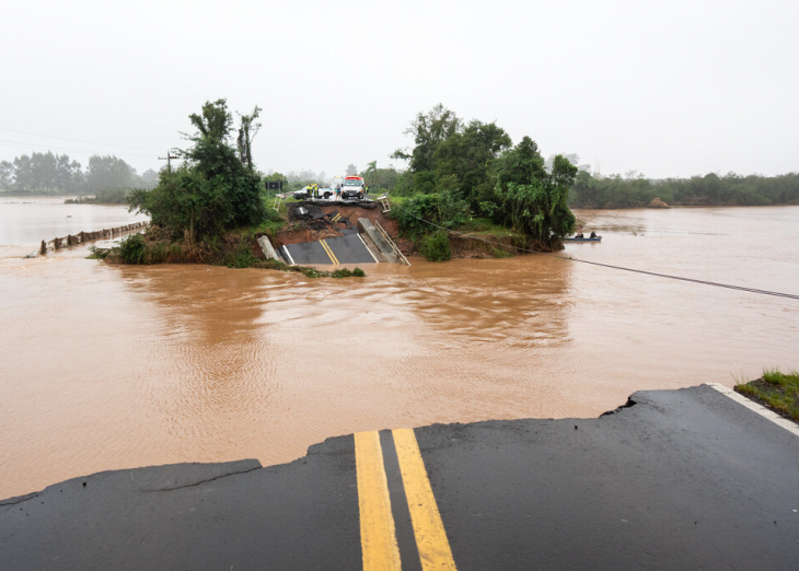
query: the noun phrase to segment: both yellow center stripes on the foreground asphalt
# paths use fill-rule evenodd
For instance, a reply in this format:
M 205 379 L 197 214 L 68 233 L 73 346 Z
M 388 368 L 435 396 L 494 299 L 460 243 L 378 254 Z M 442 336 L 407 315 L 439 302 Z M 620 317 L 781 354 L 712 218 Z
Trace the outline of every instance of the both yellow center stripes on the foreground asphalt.
M 416 546 L 424 571 L 455 570 L 452 550 L 412 429 L 392 430 Z M 364 571 L 399 571 L 402 561 L 378 432 L 355 434 L 358 509 Z

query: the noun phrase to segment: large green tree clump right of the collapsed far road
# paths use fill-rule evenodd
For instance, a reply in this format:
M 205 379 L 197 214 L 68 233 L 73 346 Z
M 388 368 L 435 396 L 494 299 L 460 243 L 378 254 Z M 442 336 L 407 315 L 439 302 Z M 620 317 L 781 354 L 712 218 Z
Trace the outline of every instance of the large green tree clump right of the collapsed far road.
M 465 123 L 442 105 L 419 113 L 406 135 L 414 147 L 393 154 L 408 161 L 393 194 L 407 198 L 392 217 L 428 259 L 449 259 L 447 231 L 468 232 L 475 218 L 513 233 L 530 249 L 560 249 L 574 232 L 567 202 L 578 170 L 568 159 L 554 156 L 547 170 L 530 137 L 513 145 L 495 123 Z

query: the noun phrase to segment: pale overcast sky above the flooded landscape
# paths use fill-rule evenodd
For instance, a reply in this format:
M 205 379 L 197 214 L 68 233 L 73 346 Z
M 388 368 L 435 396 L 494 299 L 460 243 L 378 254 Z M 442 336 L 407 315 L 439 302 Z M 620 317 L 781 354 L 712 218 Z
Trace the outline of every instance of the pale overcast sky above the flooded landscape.
M 264 171 L 404 166 L 389 155 L 437 103 L 605 174 L 799 170 L 796 0 L 4 0 L 2 12 L 4 160 L 113 153 L 141 173 L 182 144 L 189 113 L 227 97 L 263 107 Z

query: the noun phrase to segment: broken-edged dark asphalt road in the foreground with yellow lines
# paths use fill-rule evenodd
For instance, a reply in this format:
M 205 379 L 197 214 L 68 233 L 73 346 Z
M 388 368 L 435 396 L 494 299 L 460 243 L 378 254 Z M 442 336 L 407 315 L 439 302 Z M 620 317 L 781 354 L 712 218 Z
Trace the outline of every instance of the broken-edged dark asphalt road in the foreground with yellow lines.
M 709 386 L 0 502 L 2 569 L 796 569 L 799 436 Z

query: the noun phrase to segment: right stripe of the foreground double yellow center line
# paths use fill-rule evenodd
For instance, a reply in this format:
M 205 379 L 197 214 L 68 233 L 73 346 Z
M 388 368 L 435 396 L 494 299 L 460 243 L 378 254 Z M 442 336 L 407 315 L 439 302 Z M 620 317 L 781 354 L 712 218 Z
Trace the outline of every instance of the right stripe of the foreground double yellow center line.
M 414 524 L 416 546 L 419 549 L 421 569 L 455 570 L 450 541 L 447 539 L 444 524 L 436 505 L 436 497 L 427 479 L 427 470 L 421 459 L 419 444 L 412 429 L 395 429 L 394 445 L 403 475 L 405 497 L 408 499 L 410 522 Z

